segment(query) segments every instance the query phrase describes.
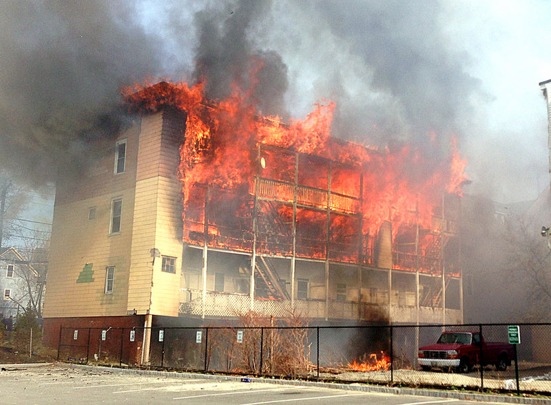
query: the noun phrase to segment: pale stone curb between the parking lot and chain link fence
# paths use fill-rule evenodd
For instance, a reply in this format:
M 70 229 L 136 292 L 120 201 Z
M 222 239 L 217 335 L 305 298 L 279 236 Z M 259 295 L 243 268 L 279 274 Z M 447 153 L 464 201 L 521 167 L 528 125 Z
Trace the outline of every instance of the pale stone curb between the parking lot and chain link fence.
M 222 381 L 241 381 L 241 376 L 235 375 L 211 375 L 211 374 L 199 374 L 199 373 L 180 373 L 176 371 L 154 371 L 154 370 L 142 370 L 142 369 L 119 369 L 116 367 L 106 366 L 87 366 L 85 364 L 65 364 L 64 365 L 76 368 L 76 369 L 94 369 L 101 371 L 111 371 L 112 373 L 125 373 L 125 374 L 137 374 L 137 375 L 156 375 L 158 377 L 170 377 L 170 378 L 202 378 L 204 380 L 222 380 Z M 293 385 L 293 386 L 315 386 L 323 388 L 334 388 L 346 391 L 363 391 L 373 393 L 385 393 L 396 395 L 415 395 L 422 397 L 436 397 L 447 399 L 462 399 L 466 401 L 481 401 L 481 402 L 499 402 L 507 404 L 530 404 L 530 405 L 551 405 L 551 399 L 546 398 L 530 398 L 530 397 L 517 397 L 513 395 L 495 395 L 484 393 L 460 393 L 457 391 L 438 391 L 428 390 L 423 388 L 397 388 L 391 386 L 377 386 L 368 384 L 342 384 L 332 382 L 312 382 L 312 381 L 300 381 L 300 380 L 275 380 L 272 378 L 260 378 L 260 377 L 247 377 L 251 382 L 264 382 L 280 385 Z

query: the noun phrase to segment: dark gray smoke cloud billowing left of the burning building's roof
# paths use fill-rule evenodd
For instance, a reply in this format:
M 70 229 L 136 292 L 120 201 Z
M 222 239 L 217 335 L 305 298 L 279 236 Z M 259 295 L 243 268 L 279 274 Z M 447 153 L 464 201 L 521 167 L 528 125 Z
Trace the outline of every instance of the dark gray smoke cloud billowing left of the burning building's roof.
M 0 165 L 27 182 L 79 171 L 121 125 L 121 85 L 163 67 L 126 1 L 2 1 Z M 65 171 L 70 173 L 70 171 Z

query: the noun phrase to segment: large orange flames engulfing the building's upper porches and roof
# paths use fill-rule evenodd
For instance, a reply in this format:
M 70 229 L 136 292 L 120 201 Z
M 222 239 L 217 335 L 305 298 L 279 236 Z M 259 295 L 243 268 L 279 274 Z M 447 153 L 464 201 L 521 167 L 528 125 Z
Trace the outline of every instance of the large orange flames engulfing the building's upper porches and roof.
M 253 86 L 256 82 L 251 83 Z M 267 215 L 277 212 L 282 218 L 279 245 L 266 246 L 267 250 L 281 250 L 277 252 L 280 254 L 289 254 L 291 250 L 291 243 L 285 239 L 287 234 L 290 237 L 291 228 L 285 230 L 285 224 L 293 214 L 291 205 L 285 203 L 293 203 L 296 198 L 285 184 L 298 181 L 306 193 L 301 198 L 318 208 L 326 207 L 327 192 L 323 190 L 330 187 L 335 204 L 351 207 L 344 208 L 345 211 L 362 213 L 362 238 L 376 234 L 385 221 L 391 221 L 394 238 L 400 229 L 406 229 L 400 224 L 416 223 L 424 230 L 438 230 L 441 223 L 435 223 L 435 214 L 442 209 L 443 195 L 461 193 L 466 162 L 459 157 L 457 140 L 450 145 L 447 159 L 437 162 L 424 149 L 408 145 L 393 151 L 377 151 L 331 137 L 335 111 L 332 101 L 316 104 L 304 120 L 284 124 L 277 116 L 258 115 L 250 89 L 235 87 L 229 98 L 216 102 L 205 98 L 204 89 L 204 83 L 189 86 L 166 82 L 123 89 L 133 111 L 158 111 L 169 106 L 187 115 L 178 173 L 183 185 L 185 238 L 191 239 L 189 232 L 194 232 L 196 242 L 251 250 L 247 238 L 252 239 L 251 196 L 258 187 L 260 149 L 261 177 L 272 180 L 271 193 L 281 202 L 258 209 Z M 428 137 L 429 143 L 437 142 L 434 134 Z M 434 146 L 436 149 L 437 145 Z M 298 179 L 295 179 L 296 162 L 300 166 Z M 209 216 L 205 226 L 207 202 Z M 355 230 L 360 227 L 360 220 L 330 218 L 329 239 L 340 244 L 341 251 L 348 252 L 336 257 L 332 257 L 334 252 L 325 252 L 324 243 L 320 242 L 327 237 L 327 221 L 323 212 L 297 210 L 296 254 L 319 258 L 329 254 L 331 259 L 356 261 L 359 243 Z M 223 239 L 216 238 L 222 234 Z M 205 237 L 209 240 L 205 241 Z M 420 234 L 418 240 L 421 250 L 430 249 L 430 234 Z

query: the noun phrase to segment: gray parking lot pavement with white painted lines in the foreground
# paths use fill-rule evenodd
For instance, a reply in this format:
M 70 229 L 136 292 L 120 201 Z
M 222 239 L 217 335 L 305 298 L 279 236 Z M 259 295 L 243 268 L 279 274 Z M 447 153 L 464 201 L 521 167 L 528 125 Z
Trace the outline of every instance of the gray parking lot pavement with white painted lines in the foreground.
M 68 364 L 12 364 L 0 371 L 2 404 L 472 404 L 464 399 L 395 395 L 239 379 L 141 375 Z M 540 402 L 541 403 L 541 402 Z

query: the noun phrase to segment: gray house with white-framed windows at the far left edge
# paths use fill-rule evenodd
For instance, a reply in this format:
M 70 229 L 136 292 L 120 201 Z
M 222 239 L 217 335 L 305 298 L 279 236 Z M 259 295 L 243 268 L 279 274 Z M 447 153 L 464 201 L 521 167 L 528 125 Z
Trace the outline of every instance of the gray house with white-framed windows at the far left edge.
M 4 318 L 15 318 L 29 306 L 28 280 L 38 275 L 16 248 L 0 250 L 0 314 Z

